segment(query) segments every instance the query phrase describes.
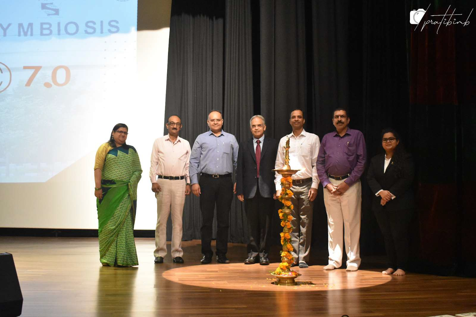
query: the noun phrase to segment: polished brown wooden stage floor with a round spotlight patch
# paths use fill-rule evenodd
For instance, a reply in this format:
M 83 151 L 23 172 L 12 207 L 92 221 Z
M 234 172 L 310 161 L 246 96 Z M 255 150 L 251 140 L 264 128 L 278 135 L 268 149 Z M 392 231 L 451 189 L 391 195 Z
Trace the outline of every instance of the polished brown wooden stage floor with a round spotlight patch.
M 0 237 L 0 252 L 15 260 L 24 317 L 424 317 L 476 311 L 471 278 L 394 277 L 382 275 L 384 267 L 346 272 L 315 265 L 296 268 L 300 285 L 286 287 L 272 284 L 269 271 L 277 263 L 243 264 L 243 244 L 229 244 L 229 265 L 201 265 L 197 240 L 183 242 L 185 264 L 172 263 L 170 254 L 154 264 L 152 238 L 137 238 L 136 246 L 138 267 L 102 267 L 97 238 Z

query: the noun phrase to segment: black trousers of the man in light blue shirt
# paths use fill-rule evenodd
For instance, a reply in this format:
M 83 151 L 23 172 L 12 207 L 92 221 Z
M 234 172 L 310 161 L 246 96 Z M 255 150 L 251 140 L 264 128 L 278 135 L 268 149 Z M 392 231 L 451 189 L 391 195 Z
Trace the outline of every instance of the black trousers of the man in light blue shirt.
M 233 182 L 231 177 L 212 178 L 200 176 L 200 211 L 202 213 L 202 253 L 212 255 L 211 237 L 213 212 L 217 206 L 217 255 L 228 251 L 228 228 L 230 207 L 233 200 Z

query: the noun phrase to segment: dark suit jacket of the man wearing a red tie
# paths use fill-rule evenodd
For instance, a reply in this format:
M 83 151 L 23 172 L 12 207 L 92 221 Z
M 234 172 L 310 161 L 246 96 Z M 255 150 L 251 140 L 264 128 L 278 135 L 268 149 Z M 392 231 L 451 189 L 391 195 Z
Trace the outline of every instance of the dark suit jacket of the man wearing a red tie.
M 261 147 L 259 163 L 259 194 L 262 197 L 273 197 L 276 193 L 274 184 L 275 172 L 272 171 L 278 152 L 278 141 L 265 136 Z M 238 148 L 237 162 L 237 195 L 253 198 L 256 194 L 256 155 L 253 138 L 241 142 Z

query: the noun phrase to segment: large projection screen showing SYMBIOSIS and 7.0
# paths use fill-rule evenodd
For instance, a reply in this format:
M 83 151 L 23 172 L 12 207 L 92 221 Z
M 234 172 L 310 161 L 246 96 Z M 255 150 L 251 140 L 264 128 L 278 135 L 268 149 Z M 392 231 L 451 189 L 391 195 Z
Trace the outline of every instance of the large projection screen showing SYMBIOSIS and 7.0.
M 137 13 L 137 0 L 2 1 L 0 227 L 97 228 L 94 157 L 121 122 L 143 170 L 135 228 L 155 229 L 169 25 L 138 32 Z

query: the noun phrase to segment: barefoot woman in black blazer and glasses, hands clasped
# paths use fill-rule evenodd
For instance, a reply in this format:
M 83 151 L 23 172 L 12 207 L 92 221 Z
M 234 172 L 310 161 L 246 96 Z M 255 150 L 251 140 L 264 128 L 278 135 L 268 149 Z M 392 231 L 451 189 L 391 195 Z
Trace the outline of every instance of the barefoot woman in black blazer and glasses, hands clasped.
M 384 236 L 389 261 L 383 274 L 405 275 L 408 261 L 408 227 L 414 211 L 411 155 L 393 129 L 382 130 L 385 153 L 372 158 L 367 182 L 375 197 L 372 210 Z

